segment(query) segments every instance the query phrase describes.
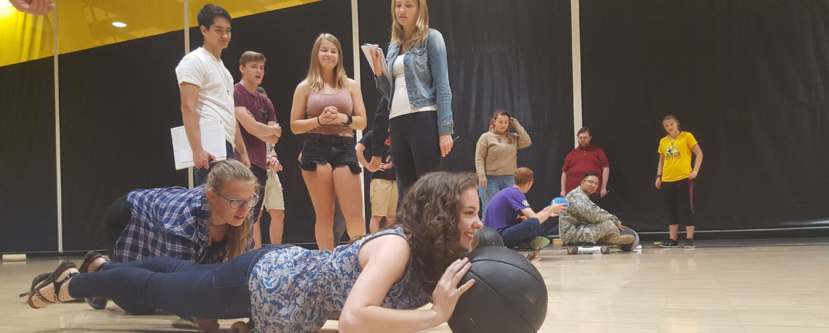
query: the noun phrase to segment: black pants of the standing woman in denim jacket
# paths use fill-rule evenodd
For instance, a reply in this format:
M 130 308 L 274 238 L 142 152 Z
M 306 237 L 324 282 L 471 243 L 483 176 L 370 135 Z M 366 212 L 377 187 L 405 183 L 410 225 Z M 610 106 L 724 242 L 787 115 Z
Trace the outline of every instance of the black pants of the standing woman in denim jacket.
M 391 118 L 389 136 L 400 198 L 420 176 L 439 171 L 438 113 L 423 111 Z M 398 203 L 402 200 L 398 201 Z

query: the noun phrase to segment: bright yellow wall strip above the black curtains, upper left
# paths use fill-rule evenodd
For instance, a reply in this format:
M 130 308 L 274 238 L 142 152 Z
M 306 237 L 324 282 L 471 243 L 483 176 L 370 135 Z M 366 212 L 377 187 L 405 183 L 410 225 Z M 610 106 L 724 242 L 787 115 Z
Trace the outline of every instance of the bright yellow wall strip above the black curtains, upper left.
M 52 56 L 53 15 L 58 18 L 60 54 L 180 31 L 184 27 L 186 0 L 52 1 L 57 4 L 57 9 L 48 17 L 36 17 L 17 12 L 7 1 L 0 0 L 0 66 Z M 206 3 L 220 4 L 230 12 L 230 16 L 237 18 L 321 0 L 187 1 L 190 27 L 196 27 L 196 14 Z M 113 22 L 124 22 L 127 27 L 114 27 Z

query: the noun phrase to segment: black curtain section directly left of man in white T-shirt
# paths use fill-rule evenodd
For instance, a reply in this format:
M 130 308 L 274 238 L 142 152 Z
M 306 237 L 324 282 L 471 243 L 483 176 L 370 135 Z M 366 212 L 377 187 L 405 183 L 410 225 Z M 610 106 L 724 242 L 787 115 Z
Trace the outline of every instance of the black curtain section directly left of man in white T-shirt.
M 104 249 L 99 226 L 119 196 L 185 186 L 170 128 L 181 126 L 173 70 L 181 31 L 60 57 L 64 249 Z

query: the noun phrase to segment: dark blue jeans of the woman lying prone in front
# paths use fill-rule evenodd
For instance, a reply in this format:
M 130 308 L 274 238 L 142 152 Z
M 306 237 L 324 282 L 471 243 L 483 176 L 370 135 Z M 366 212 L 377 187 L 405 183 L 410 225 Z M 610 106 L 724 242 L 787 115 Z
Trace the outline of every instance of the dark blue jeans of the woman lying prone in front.
M 166 257 L 109 263 L 99 272 L 72 278 L 69 293 L 74 298 L 109 297 L 184 317 L 250 317 L 250 271 L 265 253 L 287 246 L 269 245 L 208 265 Z

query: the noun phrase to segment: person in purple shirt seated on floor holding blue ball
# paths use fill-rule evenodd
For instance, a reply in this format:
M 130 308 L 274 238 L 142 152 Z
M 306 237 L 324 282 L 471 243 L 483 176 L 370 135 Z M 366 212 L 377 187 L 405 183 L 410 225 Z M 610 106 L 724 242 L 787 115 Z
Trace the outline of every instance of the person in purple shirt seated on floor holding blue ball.
M 532 187 L 532 170 L 520 167 L 515 172 L 515 185 L 509 186 L 495 196 L 487 205 L 483 224 L 496 229 L 504 246 L 521 249 L 541 249 L 550 244 L 550 223 L 545 223 L 550 216 L 556 216 L 566 210 L 566 204 L 548 205 L 536 213 L 530 208 L 524 195 Z M 526 216 L 526 220 L 521 218 Z

